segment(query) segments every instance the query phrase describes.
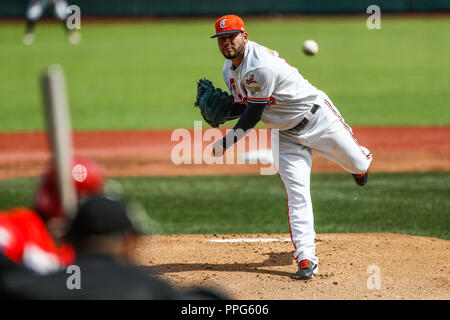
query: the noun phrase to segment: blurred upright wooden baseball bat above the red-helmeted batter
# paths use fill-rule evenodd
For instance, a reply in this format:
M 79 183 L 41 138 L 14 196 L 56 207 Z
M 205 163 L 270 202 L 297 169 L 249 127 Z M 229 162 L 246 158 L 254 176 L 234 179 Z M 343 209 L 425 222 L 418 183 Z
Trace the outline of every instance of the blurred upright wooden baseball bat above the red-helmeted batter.
M 73 219 L 76 214 L 77 199 L 72 179 L 72 129 L 66 80 L 61 66 L 48 67 L 41 76 L 41 84 L 60 201 L 65 215 Z

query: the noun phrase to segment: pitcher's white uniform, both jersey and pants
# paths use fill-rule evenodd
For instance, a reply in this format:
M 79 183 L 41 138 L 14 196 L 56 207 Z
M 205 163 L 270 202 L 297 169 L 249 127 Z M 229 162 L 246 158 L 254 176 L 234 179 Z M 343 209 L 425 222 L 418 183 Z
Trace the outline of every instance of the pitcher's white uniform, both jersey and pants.
M 331 99 L 278 52 L 248 41 L 237 68 L 231 60 L 225 61 L 223 78 L 235 102 L 267 104 L 261 120 L 271 128 L 273 157 L 286 189 L 294 258 L 297 263 L 303 259 L 318 263 L 310 195 L 311 152 L 317 151 L 352 174 L 367 172 L 371 153 L 358 144 Z M 297 125 L 305 118 L 309 122 L 299 129 Z

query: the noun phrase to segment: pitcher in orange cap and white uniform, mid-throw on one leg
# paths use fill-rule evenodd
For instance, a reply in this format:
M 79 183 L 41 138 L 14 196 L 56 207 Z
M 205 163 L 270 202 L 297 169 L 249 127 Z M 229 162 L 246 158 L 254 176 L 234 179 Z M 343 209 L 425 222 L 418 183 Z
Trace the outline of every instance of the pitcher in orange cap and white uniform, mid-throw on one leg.
M 213 145 L 221 156 L 262 120 L 271 129 L 272 150 L 288 198 L 288 220 L 294 244 L 297 279 L 318 272 L 310 172 L 312 150 L 339 164 L 356 183 L 367 183 L 372 155 L 359 145 L 352 129 L 331 99 L 309 83 L 278 52 L 248 39 L 244 22 L 236 15 L 215 24 L 220 52 L 226 61 L 224 92 L 206 79 L 197 84 L 195 105 L 213 127 L 239 118 L 233 130 Z

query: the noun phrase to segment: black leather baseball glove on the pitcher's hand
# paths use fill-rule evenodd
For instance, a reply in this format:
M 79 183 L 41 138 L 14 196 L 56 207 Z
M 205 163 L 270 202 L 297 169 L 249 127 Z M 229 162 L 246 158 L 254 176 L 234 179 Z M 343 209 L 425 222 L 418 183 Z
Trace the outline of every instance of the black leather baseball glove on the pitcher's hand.
M 220 88 L 215 88 L 211 81 L 200 79 L 197 82 L 197 96 L 194 105 L 208 124 L 213 128 L 229 120 L 233 96 Z

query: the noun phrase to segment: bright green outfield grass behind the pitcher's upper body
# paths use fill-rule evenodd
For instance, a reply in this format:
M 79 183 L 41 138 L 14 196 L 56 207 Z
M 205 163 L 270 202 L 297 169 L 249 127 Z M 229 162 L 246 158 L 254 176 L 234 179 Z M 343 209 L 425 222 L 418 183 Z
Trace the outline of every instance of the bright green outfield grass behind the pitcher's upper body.
M 0 131 L 42 130 L 39 73 L 61 64 L 75 129 L 192 127 L 195 82 L 224 87 L 224 58 L 214 19 L 83 23 L 71 46 L 59 24 L 38 24 L 22 44 L 24 24 L 0 25 Z M 251 40 L 280 52 L 333 99 L 351 125 L 448 125 L 450 20 L 364 17 L 246 19 Z M 301 43 L 315 39 L 315 57 Z

